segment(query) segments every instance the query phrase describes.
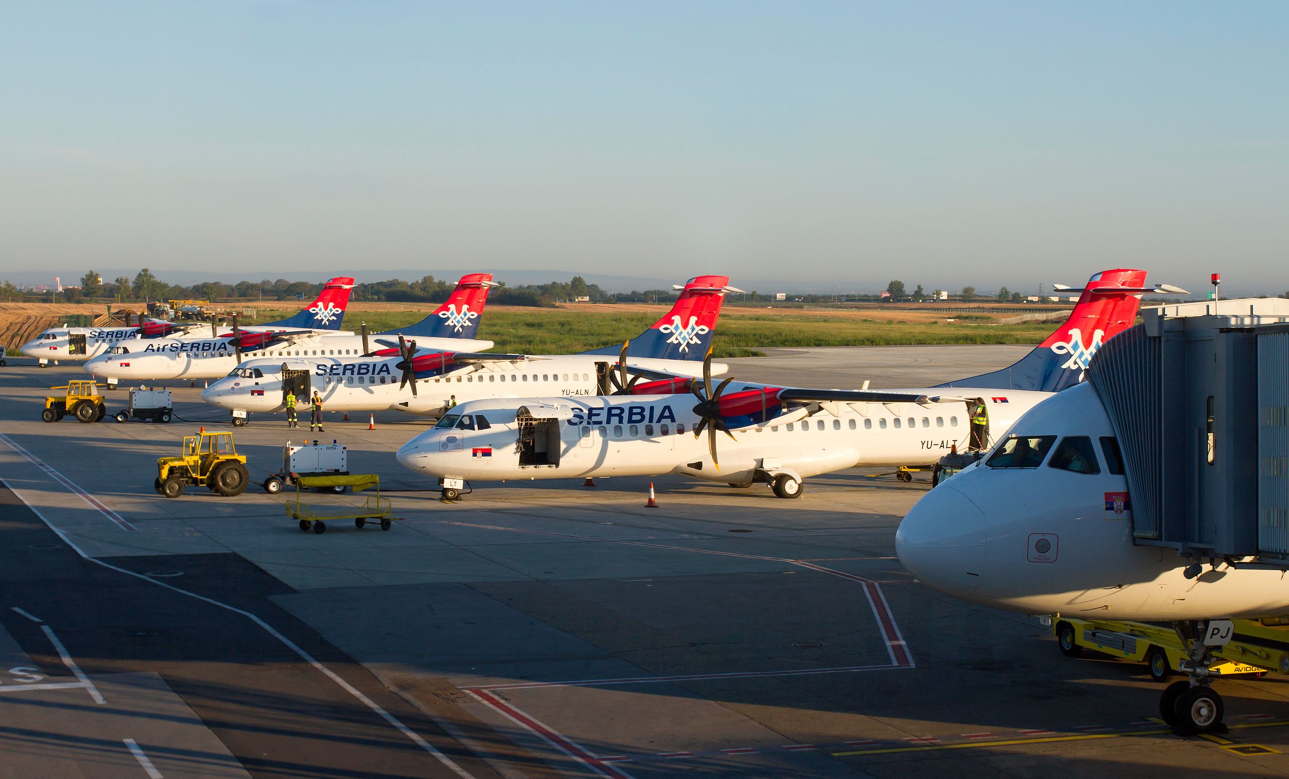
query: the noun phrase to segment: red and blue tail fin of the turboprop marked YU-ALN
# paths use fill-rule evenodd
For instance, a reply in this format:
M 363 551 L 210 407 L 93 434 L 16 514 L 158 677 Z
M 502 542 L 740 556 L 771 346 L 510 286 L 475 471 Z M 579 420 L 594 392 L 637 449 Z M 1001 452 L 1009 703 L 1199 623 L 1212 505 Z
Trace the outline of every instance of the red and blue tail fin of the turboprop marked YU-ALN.
M 684 282 L 681 297 L 661 319 L 630 340 L 626 357 L 701 361 L 712 344 L 726 292 L 742 292 L 730 286 L 728 276 L 699 276 Z M 606 346 L 583 354 L 620 354 L 620 346 Z

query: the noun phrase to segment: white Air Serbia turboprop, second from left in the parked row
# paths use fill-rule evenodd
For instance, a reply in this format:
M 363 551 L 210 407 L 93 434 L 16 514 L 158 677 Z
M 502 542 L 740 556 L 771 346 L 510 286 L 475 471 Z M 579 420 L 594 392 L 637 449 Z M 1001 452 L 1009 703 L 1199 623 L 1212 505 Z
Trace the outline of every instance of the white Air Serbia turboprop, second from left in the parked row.
M 339 279 L 349 282 L 353 279 Z M 220 379 L 237 367 L 246 355 L 253 357 L 322 357 L 326 354 L 363 354 L 373 344 L 379 349 L 398 345 L 398 335 L 418 337 L 447 346 L 477 350 L 490 349 L 492 341 L 480 341 L 470 336 L 478 326 L 483 312 L 487 291 L 496 286 L 490 273 L 472 273 L 461 277 L 447 303 L 438 306 L 431 315 L 410 327 L 388 330 L 366 335 L 326 333 L 313 330 L 300 330 L 303 317 L 313 312 L 296 314 L 275 326 L 245 327 L 218 337 L 197 339 L 173 344 L 151 344 L 146 340 L 122 341 L 110 354 L 92 359 L 85 370 L 95 376 L 107 376 L 110 381 L 138 379 L 144 381 L 164 379 Z M 330 287 L 330 283 L 329 283 Z M 344 314 L 349 288 L 336 290 L 339 305 L 331 305 L 330 315 L 336 323 Z M 324 295 L 326 291 L 324 291 Z M 343 299 L 340 297 L 343 295 Z M 322 305 L 322 297 L 315 308 Z M 315 314 L 321 317 L 322 314 Z M 285 326 L 285 327 L 277 327 Z M 293 326 L 295 327 L 293 330 Z

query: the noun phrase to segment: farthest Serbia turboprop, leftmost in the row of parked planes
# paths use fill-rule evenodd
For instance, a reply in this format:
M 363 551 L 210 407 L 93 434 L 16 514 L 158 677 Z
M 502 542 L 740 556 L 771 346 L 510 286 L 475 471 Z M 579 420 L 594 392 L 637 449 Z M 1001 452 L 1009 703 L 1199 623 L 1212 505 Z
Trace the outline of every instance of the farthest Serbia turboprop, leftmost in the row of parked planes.
M 263 330 L 289 332 L 339 330 L 352 288 L 352 278 L 333 278 L 324 285 L 317 300 L 294 317 L 242 330 L 250 332 Z M 110 353 L 122 341 L 130 341 L 131 350 L 139 352 L 146 346 L 151 346 L 153 350 L 170 349 L 173 344 L 204 340 L 201 333 L 209 332 L 206 330 L 209 327 L 211 326 L 206 322 L 166 322 L 164 319 L 148 319 L 138 327 L 50 327 L 23 344 L 22 353 L 37 358 L 41 366 L 59 359 L 93 361 L 93 358 Z

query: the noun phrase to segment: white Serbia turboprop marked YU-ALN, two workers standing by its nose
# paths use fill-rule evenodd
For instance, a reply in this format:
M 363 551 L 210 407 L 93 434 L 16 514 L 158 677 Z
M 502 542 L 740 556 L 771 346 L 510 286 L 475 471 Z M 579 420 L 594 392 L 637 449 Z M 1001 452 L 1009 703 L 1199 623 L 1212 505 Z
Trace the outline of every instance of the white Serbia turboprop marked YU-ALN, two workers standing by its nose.
M 285 389 L 298 398 L 318 390 L 327 411 L 402 411 L 438 416 L 451 398 L 516 395 L 594 395 L 623 385 L 612 367 L 625 362 L 638 370 L 695 376 L 701 370 L 728 286 L 724 276 L 691 278 L 661 319 L 620 350 L 608 348 L 570 355 L 480 354 L 469 344 L 441 344 L 403 332 L 398 344 L 354 355 L 309 354 L 289 359 L 244 362 L 201 397 L 245 412 L 284 409 Z M 612 355 L 612 357 L 610 357 Z M 724 366 L 718 366 L 723 371 Z M 285 381 L 284 381 L 285 379 Z

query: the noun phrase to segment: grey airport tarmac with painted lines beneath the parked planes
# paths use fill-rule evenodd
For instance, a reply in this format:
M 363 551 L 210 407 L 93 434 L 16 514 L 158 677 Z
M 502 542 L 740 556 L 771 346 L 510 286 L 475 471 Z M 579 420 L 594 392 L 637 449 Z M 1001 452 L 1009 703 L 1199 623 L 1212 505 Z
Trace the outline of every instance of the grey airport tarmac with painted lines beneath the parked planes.
M 1025 352 L 726 362 L 909 388 Z M 187 382 L 170 425 L 41 422 L 45 388 L 82 375 L 0 368 L 0 776 L 1289 773 L 1284 677 L 1219 680 L 1231 731 L 1177 738 L 1145 667 L 1065 658 L 1036 619 L 913 579 L 895 528 L 926 474 L 843 471 L 797 501 L 663 476 L 656 510 L 650 479 L 443 503 L 392 456 L 424 420 L 329 412 L 311 438 L 380 474 L 401 521 L 302 533 L 291 493 L 156 494 L 156 457 L 231 429 Z M 272 416 L 232 430 L 257 483 L 307 434 Z

